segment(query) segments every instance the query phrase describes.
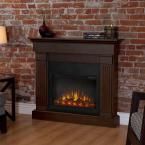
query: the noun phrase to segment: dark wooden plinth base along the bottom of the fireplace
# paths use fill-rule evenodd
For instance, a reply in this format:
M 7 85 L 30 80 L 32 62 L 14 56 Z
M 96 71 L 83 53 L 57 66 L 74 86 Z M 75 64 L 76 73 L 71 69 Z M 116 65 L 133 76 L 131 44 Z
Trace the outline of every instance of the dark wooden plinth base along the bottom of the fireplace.
M 40 120 L 86 124 L 86 125 L 100 125 L 107 127 L 116 127 L 120 124 L 120 117 L 118 115 L 113 117 L 106 117 L 106 116 L 92 116 L 64 112 L 34 110 L 32 112 L 32 118 Z

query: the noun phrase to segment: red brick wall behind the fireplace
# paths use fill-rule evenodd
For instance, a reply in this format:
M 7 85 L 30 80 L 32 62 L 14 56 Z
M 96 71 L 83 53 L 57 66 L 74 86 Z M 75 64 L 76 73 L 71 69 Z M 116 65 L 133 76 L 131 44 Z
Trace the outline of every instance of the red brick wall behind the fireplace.
M 0 71 L 17 78 L 17 96 L 35 101 L 35 55 L 28 37 L 37 37 L 43 13 L 58 36 L 119 27 L 119 111 L 128 111 L 132 91 L 145 91 L 144 0 L 2 0 L 0 24 L 9 31 L 9 46 L 0 48 Z

